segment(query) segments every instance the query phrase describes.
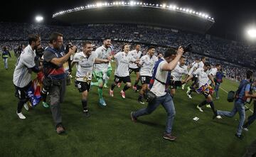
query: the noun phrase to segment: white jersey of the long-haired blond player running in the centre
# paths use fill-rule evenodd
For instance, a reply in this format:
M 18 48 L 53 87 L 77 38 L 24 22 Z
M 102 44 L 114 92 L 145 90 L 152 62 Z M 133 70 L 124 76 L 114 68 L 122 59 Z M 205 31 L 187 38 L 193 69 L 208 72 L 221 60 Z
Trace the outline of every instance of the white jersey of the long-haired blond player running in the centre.
M 119 52 L 114 55 L 114 59 L 116 60 L 117 68 L 114 72 L 114 75 L 118 77 L 127 77 L 129 76 L 129 63 L 134 62 L 135 59 L 129 53 Z

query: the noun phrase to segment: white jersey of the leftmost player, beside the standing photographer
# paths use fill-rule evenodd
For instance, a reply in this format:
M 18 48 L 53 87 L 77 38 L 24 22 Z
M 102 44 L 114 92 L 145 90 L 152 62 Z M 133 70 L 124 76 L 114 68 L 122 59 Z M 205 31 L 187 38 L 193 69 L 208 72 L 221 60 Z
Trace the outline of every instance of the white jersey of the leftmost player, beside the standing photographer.
M 17 87 L 25 87 L 31 82 L 30 68 L 36 65 L 34 59 L 36 57 L 36 51 L 32 50 L 31 45 L 28 45 L 22 51 L 20 57 L 17 60 L 14 70 L 14 85 Z

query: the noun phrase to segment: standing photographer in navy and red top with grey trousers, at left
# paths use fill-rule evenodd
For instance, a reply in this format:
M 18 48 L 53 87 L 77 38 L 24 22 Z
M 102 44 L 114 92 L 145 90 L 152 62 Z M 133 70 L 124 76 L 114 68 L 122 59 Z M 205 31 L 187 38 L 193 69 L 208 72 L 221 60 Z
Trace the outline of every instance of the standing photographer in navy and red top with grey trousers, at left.
M 73 46 L 69 48 L 68 53 L 64 55 L 61 49 L 62 46 L 63 35 L 61 33 L 52 33 L 50 35 L 50 44 L 43 53 L 43 71 L 45 75 L 43 88 L 49 92 L 50 110 L 58 134 L 65 132 L 60 114 L 60 102 L 63 102 L 66 77 L 63 63 L 65 63 L 76 50 L 76 47 Z

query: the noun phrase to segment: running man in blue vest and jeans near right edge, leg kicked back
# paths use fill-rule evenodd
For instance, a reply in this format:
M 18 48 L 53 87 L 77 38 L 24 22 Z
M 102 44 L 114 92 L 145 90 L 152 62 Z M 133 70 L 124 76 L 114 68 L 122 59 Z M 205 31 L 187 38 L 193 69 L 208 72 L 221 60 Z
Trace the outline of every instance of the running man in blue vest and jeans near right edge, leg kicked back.
M 242 125 L 245 122 L 245 102 L 247 98 L 256 98 L 256 94 L 250 94 L 250 80 L 252 79 L 252 71 L 247 70 L 246 79 L 240 82 L 238 90 L 235 95 L 234 107 L 231 112 L 225 112 L 217 110 L 217 115 L 225 117 L 234 117 L 235 114 L 239 113 L 239 124 L 238 130 L 235 134 L 236 137 L 242 139 Z M 216 115 L 216 116 L 217 116 Z

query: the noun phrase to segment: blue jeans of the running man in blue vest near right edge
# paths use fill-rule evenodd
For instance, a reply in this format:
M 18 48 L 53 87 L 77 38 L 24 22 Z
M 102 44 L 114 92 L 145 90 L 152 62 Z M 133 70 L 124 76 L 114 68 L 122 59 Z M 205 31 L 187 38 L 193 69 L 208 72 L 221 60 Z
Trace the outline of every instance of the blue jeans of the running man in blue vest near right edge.
M 238 112 L 239 118 L 240 118 L 237 134 L 241 135 L 242 134 L 242 125 L 245 122 L 245 104 L 243 104 L 241 102 L 235 102 L 234 107 L 231 112 L 224 112 L 224 111 L 217 110 L 217 114 L 219 116 L 225 116 L 225 117 L 234 117 L 237 112 Z

